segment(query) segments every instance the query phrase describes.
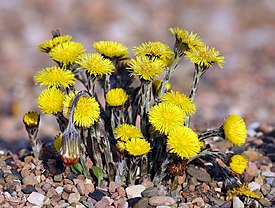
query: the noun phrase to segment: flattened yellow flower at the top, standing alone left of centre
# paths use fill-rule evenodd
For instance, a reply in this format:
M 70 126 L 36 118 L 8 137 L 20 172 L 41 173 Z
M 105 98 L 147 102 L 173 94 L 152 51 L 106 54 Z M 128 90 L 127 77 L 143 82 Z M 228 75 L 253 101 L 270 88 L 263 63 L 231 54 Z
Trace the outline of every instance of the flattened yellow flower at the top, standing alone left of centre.
M 94 49 L 108 58 L 128 58 L 128 48 L 114 41 L 98 41 L 93 44 Z

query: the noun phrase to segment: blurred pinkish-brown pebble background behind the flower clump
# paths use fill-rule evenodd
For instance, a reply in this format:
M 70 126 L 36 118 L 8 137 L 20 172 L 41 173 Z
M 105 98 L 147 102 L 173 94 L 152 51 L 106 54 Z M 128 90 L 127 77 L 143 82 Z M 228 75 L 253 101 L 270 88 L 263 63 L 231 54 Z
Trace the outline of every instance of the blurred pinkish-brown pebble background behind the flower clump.
M 203 76 L 192 123 L 218 127 L 230 113 L 246 123 L 275 123 L 275 4 L 273 0 L 1 0 L 0 148 L 27 143 L 22 117 L 38 110 L 42 89 L 33 76 L 54 64 L 38 44 L 60 29 L 93 51 L 99 40 L 118 41 L 131 50 L 143 41 L 173 47 L 168 31 L 178 26 L 197 33 L 226 58 L 221 70 Z M 189 94 L 193 65 L 183 60 L 172 89 Z M 53 116 L 41 117 L 39 137 L 58 133 Z M 16 141 L 16 143 L 14 143 Z

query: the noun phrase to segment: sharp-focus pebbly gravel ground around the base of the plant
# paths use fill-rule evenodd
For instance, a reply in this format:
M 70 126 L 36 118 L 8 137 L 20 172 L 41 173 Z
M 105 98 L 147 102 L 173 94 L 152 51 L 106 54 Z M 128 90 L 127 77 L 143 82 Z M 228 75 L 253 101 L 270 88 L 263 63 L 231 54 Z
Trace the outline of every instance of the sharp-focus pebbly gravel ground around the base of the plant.
M 173 189 L 151 181 L 129 187 L 115 182 L 95 187 L 84 175 L 68 168 L 57 169 L 57 161 L 43 163 L 26 156 L 27 150 L 21 150 L 18 154 L 1 151 L 0 207 L 272 207 L 275 205 L 275 129 L 255 123 L 248 134 L 247 143 L 242 147 L 231 148 L 223 140 L 213 140 L 210 145 L 220 151 L 246 155 L 249 163 L 239 179 L 260 196 L 258 201 L 238 196 L 226 200 L 223 181 L 213 180 L 203 165 L 190 164 L 186 173 L 171 182 Z

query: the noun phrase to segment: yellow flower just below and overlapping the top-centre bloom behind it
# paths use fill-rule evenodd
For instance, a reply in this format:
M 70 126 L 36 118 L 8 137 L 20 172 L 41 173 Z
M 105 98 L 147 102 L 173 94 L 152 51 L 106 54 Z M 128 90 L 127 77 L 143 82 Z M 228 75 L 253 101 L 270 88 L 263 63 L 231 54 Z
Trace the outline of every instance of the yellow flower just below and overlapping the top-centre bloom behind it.
M 129 68 L 134 75 L 139 76 L 140 79 L 152 81 L 154 77 L 158 77 L 165 69 L 165 64 L 159 59 L 149 59 L 148 57 L 136 57 L 129 63 Z

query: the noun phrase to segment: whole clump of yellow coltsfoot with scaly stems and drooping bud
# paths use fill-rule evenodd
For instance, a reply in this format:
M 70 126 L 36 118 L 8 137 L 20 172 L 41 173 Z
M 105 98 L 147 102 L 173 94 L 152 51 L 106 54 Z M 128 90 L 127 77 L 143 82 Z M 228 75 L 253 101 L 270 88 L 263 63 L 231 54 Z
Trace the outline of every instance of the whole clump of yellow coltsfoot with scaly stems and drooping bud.
M 217 169 L 225 187 L 235 188 L 231 195 L 244 193 L 238 187 L 249 192 L 237 180 L 246 158 L 213 151 L 205 142 L 220 137 L 233 145 L 244 144 L 243 119 L 232 113 L 217 129 L 198 134 L 190 128 L 199 81 L 215 65 L 222 68 L 224 57 L 193 32 L 178 27 L 170 32 L 175 37 L 173 49 L 145 42 L 133 47 L 132 59 L 120 43 L 95 42 L 95 52 L 88 53 L 71 36 L 53 31 L 52 39 L 42 42 L 39 50 L 55 65 L 34 76 L 35 83 L 45 88 L 37 99 L 39 109 L 55 116 L 60 127 L 52 146 L 64 165 L 89 178 L 93 173 L 98 183 L 113 180 L 129 185 L 150 178 L 157 184 L 182 175 L 187 165 L 200 159 Z M 194 64 L 189 94 L 172 90 L 169 83 L 185 59 Z M 37 158 L 41 157 L 39 120 L 33 111 L 23 118 Z M 90 169 L 88 157 L 93 162 Z

